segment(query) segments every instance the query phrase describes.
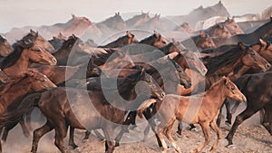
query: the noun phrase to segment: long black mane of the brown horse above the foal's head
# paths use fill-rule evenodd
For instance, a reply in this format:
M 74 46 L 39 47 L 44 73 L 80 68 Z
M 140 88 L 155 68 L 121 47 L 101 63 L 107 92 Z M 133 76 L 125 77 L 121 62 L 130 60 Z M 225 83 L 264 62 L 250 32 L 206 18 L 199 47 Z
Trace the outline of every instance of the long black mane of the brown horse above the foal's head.
M 206 65 L 209 71 L 206 75 L 209 76 L 210 74 L 218 71 L 219 68 L 237 62 L 243 53 L 244 52 L 240 51 L 239 46 L 237 46 L 226 53 L 209 58 Z

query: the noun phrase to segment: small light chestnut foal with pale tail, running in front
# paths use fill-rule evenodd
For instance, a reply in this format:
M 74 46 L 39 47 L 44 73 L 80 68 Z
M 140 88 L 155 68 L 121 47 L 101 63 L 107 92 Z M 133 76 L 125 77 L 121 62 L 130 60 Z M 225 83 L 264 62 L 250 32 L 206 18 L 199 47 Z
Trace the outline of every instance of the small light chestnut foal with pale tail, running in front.
M 179 95 L 168 94 L 163 101 L 160 100 L 146 100 L 141 105 L 139 115 L 142 110 L 145 110 L 152 103 L 157 102 L 156 111 L 160 116 L 160 125 L 155 127 L 160 140 L 162 142 L 162 152 L 166 152 L 167 145 L 162 137 L 162 133 L 170 140 L 172 146 L 177 152 L 181 153 L 179 146 L 175 143 L 171 136 L 171 129 L 175 120 L 183 120 L 188 123 L 198 123 L 203 131 L 205 142 L 193 152 L 201 152 L 209 144 L 209 127 L 217 133 L 217 140 L 210 149 L 215 152 L 219 145 L 221 138 L 220 130 L 216 124 L 216 119 L 219 113 L 219 108 L 224 100 L 232 98 L 238 101 L 246 101 L 246 97 L 238 90 L 237 86 L 229 81 L 228 78 L 223 77 L 215 82 L 204 93 L 198 95 L 182 97 Z

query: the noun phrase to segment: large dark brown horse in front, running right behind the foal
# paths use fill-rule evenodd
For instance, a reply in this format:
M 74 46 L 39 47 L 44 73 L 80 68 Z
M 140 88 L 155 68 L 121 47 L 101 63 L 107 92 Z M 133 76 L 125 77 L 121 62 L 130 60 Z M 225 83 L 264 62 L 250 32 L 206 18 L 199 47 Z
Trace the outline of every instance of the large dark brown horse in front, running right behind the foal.
M 112 124 L 109 124 L 107 120 L 110 120 L 116 124 L 122 124 L 126 110 L 138 108 L 141 103 L 135 103 L 135 101 L 129 102 L 137 97 L 135 85 L 138 81 L 147 82 L 147 85 L 142 86 L 141 90 L 150 88 L 151 95 L 149 96 L 162 100 L 165 93 L 161 91 L 158 84 L 152 80 L 149 74 L 139 71 L 136 74 L 131 74 L 129 77 L 127 77 L 127 79 L 118 85 L 120 87 L 119 93 L 125 101 L 117 98 L 116 93 L 112 93 L 112 90 L 109 91 L 109 94 L 112 96 L 115 95 L 112 97 L 112 100 L 117 100 L 117 103 L 113 102 L 112 100 L 106 100 L 103 96 L 105 92 L 102 93 L 102 91 L 88 91 L 87 96 L 83 96 L 83 94 L 86 93 L 85 91 L 67 88 L 56 88 L 51 91 L 45 91 L 42 93 L 42 95 L 40 95 L 40 100 L 38 102 L 29 103 L 28 101 L 29 107 L 34 107 L 34 105 L 38 106 L 47 119 L 47 122 L 43 127 L 34 130 L 33 148 L 31 152 L 37 151 L 39 139 L 52 129 L 55 129 L 55 145 L 61 150 L 61 152 L 66 152 L 63 144 L 63 138 L 66 136 L 67 126 L 71 126 L 74 129 L 102 129 L 106 138 L 106 152 L 112 152 L 114 149 L 112 134 L 113 129 L 115 129 L 116 126 L 112 126 Z M 137 92 L 144 93 L 145 91 Z M 72 94 L 73 100 L 70 98 L 68 99 L 67 95 Z M 91 111 L 86 111 L 87 113 L 91 113 L 92 118 L 88 118 L 88 120 L 85 121 L 92 122 L 92 124 L 88 124 L 91 127 L 88 126 L 85 128 L 83 127 L 83 124 L 80 123 L 79 119 L 76 118 L 76 115 L 78 114 L 73 114 L 74 112 L 78 111 L 73 110 L 80 109 L 80 107 L 86 108 L 86 106 L 83 106 L 85 104 L 83 104 L 82 101 L 86 101 L 87 99 L 92 100 L 92 104 L 90 105 L 91 108 L 89 108 Z M 23 102 L 27 103 L 27 101 Z M 71 102 L 77 104 L 70 105 Z M 116 107 L 123 108 L 124 110 L 117 109 Z M 22 110 L 23 108 L 18 109 Z M 15 113 L 19 113 L 19 111 L 15 111 Z M 21 113 L 24 113 L 24 111 L 21 111 Z

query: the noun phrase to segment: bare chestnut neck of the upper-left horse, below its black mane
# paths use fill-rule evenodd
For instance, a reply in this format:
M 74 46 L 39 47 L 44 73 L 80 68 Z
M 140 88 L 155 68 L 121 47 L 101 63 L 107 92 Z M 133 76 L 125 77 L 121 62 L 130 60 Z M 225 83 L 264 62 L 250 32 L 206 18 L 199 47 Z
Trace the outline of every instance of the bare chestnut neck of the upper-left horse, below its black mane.
M 26 72 L 26 70 L 30 67 L 31 62 L 30 59 L 27 57 L 27 53 L 23 51 L 23 53 L 21 54 L 20 58 L 17 60 L 17 62 L 15 62 L 14 65 L 5 68 L 3 71 L 12 77 L 15 77 L 16 75 L 21 75 L 24 74 L 24 72 Z

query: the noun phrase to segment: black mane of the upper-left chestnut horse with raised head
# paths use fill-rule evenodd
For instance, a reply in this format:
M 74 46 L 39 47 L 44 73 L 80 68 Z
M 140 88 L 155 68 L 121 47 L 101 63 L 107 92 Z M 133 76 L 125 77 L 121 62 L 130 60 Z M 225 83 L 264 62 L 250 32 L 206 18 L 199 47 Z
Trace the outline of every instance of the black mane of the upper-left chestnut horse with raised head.
M 33 45 L 29 46 L 28 48 L 32 47 Z M 20 46 L 19 42 L 15 43 L 13 47 L 15 51 L 7 55 L 3 62 L 0 63 L 0 69 L 4 70 L 5 68 L 13 66 L 21 57 L 24 47 Z

